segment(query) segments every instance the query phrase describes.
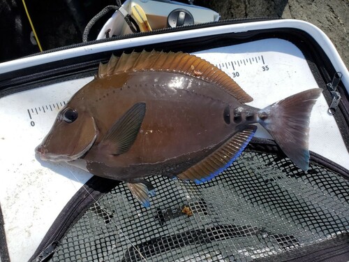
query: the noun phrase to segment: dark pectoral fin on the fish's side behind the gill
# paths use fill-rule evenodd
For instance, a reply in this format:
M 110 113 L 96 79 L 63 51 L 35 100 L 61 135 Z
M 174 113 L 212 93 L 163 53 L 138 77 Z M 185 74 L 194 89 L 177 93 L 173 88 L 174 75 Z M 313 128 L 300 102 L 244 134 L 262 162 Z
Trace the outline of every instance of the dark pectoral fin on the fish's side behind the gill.
M 135 142 L 145 115 L 145 103 L 136 103 L 107 132 L 101 145 L 112 154 L 127 152 Z

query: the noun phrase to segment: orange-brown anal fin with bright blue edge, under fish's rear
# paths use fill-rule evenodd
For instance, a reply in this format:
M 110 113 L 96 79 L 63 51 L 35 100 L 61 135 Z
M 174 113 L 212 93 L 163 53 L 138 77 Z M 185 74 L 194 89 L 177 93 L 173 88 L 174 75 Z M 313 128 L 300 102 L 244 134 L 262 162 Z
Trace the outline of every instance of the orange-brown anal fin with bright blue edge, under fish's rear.
M 181 180 L 191 180 L 196 184 L 211 180 L 225 168 L 228 168 L 242 154 L 256 130 L 257 126 L 246 126 L 243 131 L 236 133 L 215 152 L 195 163 L 194 166 L 177 175 L 177 177 Z

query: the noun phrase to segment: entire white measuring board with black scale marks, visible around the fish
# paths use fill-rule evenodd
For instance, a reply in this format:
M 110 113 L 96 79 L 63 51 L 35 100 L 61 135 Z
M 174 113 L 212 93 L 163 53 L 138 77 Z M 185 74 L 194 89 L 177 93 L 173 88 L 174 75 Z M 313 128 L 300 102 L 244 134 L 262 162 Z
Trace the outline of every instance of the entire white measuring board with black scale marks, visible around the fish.
M 281 39 L 195 54 L 227 72 L 253 97 L 250 105 L 255 107 L 318 87 L 302 52 Z M 34 154 L 60 108 L 91 80 L 69 80 L 0 99 L 0 204 L 11 261 L 30 258 L 64 205 L 91 177 L 64 163 L 39 161 Z M 321 96 L 311 117 L 310 150 L 349 168 L 348 151 L 327 109 Z M 256 136 L 270 138 L 260 126 Z

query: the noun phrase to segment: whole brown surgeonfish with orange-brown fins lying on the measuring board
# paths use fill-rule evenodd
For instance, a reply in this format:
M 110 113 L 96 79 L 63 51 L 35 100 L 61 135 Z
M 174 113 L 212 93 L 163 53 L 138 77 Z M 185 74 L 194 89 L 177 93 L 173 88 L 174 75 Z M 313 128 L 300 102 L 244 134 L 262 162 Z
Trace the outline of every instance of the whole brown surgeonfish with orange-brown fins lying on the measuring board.
M 149 207 L 155 189 L 147 177 L 207 182 L 242 154 L 256 124 L 308 170 L 310 115 L 321 92 L 308 89 L 254 108 L 227 73 L 195 55 L 113 55 L 61 109 L 35 151 L 44 161 L 126 182 Z

